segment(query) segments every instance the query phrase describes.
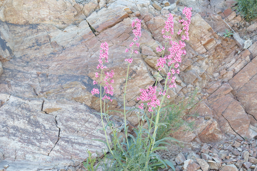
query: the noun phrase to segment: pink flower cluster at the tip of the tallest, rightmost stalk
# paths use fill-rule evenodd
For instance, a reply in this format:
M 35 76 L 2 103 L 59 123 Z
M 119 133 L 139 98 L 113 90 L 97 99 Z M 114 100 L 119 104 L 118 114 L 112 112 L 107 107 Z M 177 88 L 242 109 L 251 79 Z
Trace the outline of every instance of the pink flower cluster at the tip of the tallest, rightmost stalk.
M 189 25 L 191 23 L 191 16 L 192 16 L 192 12 L 191 12 L 192 8 L 184 8 L 182 13 L 186 16 L 187 20 L 179 20 L 179 23 L 182 23 L 183 25 L 183 31 L 182 30 L 178 30 L 178 34 L 181 34 L 181 32 L 184 32 L 185 35 L 182 33 L 181 35 L 181 40 L 189 40 L 189 36 L 188 36 L 188 30 L 189 30 Z

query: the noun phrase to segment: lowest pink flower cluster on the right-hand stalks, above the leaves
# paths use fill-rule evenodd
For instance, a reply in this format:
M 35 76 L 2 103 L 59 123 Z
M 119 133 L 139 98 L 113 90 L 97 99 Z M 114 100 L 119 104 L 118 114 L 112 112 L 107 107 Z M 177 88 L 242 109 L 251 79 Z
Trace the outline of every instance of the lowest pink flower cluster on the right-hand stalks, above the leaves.
M 140 97 L 137 98 L 137 100 L 141 100 L 141 101 L 149 101 L 147 103 L 148 111 L 152 112 L 153 108 L 160 106 L 160 101 L 159 99 L 157 99 L 156 96 L 156 86 L 149 86 L 148 89 L 140 89 L 141 95 Z M 144 104 L 141 103 L 141 105 L 139 106 L 140 109 L 143 109 Z

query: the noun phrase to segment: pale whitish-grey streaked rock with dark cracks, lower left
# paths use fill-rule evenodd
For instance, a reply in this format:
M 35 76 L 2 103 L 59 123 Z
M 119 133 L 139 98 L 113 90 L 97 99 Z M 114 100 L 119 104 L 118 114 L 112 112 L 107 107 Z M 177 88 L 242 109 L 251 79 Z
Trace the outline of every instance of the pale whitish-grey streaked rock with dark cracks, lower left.
M 43 101 L 11 95 L 6 100 L 0 108 L 0 145 L 5 160 L 11 161 L 9 170 L 23 164 L 16 159 L 26 160 L 34 169 L 50 169 L 54 163 L 76 166 L 87 158 L 87 149 L 101 155 L 103 143 L 91 141 L 93 137 L 106 140 L 104 132 L 97 131 L 102 127 L 101 117 L 89 107 L 66 99 Z M 50 164 L 42 168 L 33 162 Z

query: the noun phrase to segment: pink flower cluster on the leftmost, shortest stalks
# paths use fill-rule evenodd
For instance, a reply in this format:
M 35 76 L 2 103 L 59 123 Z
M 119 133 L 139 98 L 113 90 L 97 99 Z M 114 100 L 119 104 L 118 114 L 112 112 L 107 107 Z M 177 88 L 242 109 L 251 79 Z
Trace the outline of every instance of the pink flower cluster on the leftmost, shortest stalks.
M 104 81 L 105 81 L 105 84 L 106 86 L 104 86 L 104 92 L 103 94 L 105 94 L 105 96 L 102 98 L 103 100 L 104 99 L 108 99 L 110 101 L 112 101 L 111 97 L 108 96 L 109 95 L 113 95 L 113 86 L 112 86 L 112 83 L 114 83 L 114 80 L 112 79 L 113 78 L 113 75 L 114 75 L 114 72 L 113 70 L 109 70 L 107 68 L 107 66 L 104 66 L 103 64 L 105 62 L 108 63 L 108 50 L 109 50 L 109 46 L 107 44 L 107 42 L 104 42 L 101 44 L 101 48 L 102 50 L 100 50 L 100 56 L 99 56 L 99 64 L 97 66 L 97 69 L 101 69 L 101 72 L 96 72 L 95 73 L 95 77 L 98 78 L 98 77 L 101 77 L 101 74 L 103 73 L 104 74 Z M 103 72 L 103 69 L 106 69 L 104 72 Z M 93 81 L 93 84 L 100 84 L 102 86 L 102 82 L 97 82 L 97 81 Z M 92 95 L 94 94 L 99 94 L 99 89 L 97 88 L 94 88 L 92 91 L 91 91 Z

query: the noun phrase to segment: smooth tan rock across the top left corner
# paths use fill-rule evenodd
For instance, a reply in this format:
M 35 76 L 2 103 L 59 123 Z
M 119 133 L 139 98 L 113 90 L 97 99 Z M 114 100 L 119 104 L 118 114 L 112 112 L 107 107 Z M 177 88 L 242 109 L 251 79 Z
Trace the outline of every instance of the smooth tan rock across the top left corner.
M 76 9 L 67 0 L 5 1 L 0 13 L 2 14 L 0 19 L 8 23 L 19 25 L 45 23 L 60 29 L 83 21 L 83 18 L 76 17 Z

